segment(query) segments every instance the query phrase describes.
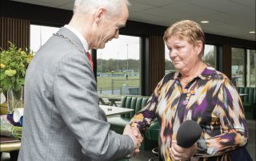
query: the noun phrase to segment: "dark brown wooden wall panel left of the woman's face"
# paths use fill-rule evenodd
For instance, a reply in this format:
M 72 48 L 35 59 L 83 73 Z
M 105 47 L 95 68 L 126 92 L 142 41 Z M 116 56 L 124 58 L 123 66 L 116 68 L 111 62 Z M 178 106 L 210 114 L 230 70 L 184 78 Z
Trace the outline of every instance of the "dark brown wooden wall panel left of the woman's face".
M 165 75 L 165 46 L 162 37 L 150 36 L 150 93 Z

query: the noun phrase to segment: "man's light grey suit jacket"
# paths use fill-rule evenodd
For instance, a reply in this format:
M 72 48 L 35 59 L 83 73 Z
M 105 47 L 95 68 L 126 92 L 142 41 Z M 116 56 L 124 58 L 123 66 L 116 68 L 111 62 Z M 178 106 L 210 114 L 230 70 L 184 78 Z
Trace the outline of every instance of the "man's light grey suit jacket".
M 134 149 L 110 131 L 81 41 L 62 27 L 38 50 L 26 73 L 24 126 L 18 160 L 116 160 Z

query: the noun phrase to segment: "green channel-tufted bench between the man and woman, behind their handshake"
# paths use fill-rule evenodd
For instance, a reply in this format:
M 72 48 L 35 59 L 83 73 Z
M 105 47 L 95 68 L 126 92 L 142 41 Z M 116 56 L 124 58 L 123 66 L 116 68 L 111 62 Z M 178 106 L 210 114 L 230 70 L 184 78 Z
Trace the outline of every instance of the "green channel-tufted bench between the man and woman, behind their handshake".
M 149 96 L 122 96 L 121 108 L 133 108 L 134 111 L 120 116 L 109 117 L 107 121 L 110 123 L 110 129 L 114 132 L 122 134 L 126 124 L 129 124 L 130 119 L 146 104 Z

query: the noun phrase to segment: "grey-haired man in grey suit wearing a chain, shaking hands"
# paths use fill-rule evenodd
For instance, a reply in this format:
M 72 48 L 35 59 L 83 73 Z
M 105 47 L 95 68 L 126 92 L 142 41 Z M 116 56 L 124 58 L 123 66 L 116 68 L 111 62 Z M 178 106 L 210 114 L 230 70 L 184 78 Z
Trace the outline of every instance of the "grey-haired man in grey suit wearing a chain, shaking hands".
M 26 73 L 21 161 L 116 160 L 138 153 L 139 132 L 110 131 L 98 106 L 90 49 L 118 38 L 126 0 L 76 0 L 69 25 L 35 54 Z

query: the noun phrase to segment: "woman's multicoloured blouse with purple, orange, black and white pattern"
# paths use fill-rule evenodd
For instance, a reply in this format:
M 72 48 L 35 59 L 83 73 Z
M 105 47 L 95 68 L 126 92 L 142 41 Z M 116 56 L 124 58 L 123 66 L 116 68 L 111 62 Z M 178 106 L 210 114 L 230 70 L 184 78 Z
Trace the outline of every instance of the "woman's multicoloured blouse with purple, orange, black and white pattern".
M 155 118 L 160 127 L 160 154 L 171 160 L 168 147 L 185 120 L 200 124 L 198 152 L 191 160 L 230 160 L 230 150 L 247 143 L 247 125 L 236 88 L 208 66 L 182 90 L 180 73 L 169 73 L 158 83 L 146 106 L 130 123 L 145 131 Z M 210 158 L 209 158 L 210 157 Z

